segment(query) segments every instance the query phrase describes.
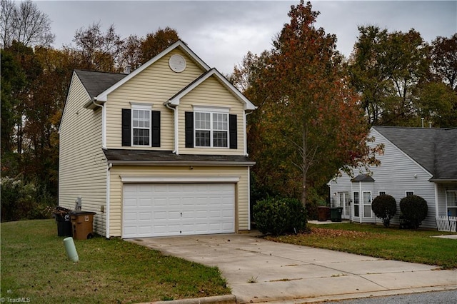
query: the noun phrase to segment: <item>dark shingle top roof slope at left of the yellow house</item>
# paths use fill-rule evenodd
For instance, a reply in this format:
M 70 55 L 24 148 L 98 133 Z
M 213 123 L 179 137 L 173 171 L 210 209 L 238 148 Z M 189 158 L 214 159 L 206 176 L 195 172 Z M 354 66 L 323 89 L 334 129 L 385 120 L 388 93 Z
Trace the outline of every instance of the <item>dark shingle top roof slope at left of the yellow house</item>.
M 127 76 L 127 74 L 116 74 L 107 72 L 74 70 L 79 80 L 83 83 L 87 93 L 91 98 L 98 96 L 107 88 L 113 86 L 116 82 Z

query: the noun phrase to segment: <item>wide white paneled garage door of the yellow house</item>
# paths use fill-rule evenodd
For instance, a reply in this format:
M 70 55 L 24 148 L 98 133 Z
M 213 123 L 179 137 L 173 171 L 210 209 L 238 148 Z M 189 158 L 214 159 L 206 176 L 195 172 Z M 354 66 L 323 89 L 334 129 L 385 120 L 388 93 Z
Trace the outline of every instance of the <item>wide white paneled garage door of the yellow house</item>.
M 233 232 L 233 183 L 124 184 L 123 238 Z

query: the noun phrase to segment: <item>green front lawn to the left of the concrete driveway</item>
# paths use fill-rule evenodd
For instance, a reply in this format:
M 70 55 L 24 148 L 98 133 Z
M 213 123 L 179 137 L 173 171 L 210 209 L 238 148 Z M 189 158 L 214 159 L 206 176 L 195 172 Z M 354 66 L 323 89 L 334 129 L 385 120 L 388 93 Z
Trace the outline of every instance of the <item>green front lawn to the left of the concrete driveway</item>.
M 53 220 L 1 223 L 1 297 L 33 303 L 139 303 L 230 294 L 209 268 L 117 238 L 75 240 L 66 256 Z

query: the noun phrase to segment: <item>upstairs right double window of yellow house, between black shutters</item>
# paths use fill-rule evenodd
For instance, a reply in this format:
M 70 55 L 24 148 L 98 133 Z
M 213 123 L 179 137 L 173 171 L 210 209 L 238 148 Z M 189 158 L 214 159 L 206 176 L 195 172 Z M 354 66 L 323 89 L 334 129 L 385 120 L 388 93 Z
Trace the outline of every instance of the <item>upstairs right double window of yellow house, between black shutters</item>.
M 194 112 L 195 146 L 229 148 L 229 113 Z

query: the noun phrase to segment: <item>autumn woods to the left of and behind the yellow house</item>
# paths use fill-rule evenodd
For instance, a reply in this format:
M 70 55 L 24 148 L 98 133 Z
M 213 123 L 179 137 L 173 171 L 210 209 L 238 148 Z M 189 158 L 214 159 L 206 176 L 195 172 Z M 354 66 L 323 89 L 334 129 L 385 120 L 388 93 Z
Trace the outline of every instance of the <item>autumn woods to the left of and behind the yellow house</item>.
M 54 38 L 34 2 L 1 1 L 1 221 L 42 217 L 58 203 L 59 123 L 73 70 L 134 70 L 179 36 L 166 27 L 121 39 L 114 25 L 94 23 L 61 49 Z

